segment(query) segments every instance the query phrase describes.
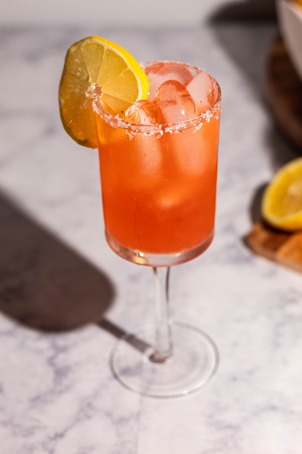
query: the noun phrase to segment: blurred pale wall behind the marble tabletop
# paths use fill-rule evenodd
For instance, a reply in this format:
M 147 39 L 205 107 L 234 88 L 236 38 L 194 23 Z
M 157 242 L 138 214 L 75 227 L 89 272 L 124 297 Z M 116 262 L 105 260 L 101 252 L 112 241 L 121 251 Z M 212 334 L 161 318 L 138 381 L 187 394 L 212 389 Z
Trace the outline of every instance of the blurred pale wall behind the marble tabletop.
M 89 3 L 76 0 L 1 0 L 1 25 L 49 25 L 60 24 L 69 26 L 91 27 L 114 26 L 183 26 L 199 25 L 217 8 L 232 5 L 230 14 L 244 15 L 236 5 L 245 5 L 245 13 L 253 16 L 268 16 L 273 10 L 272 0 L 190 0 L 189 2 L 173 0 L 153 0 L 131 2 L 123 0 L 104 1 L 91 0 Z M 241 6 L 240 5 L 240 6 Z

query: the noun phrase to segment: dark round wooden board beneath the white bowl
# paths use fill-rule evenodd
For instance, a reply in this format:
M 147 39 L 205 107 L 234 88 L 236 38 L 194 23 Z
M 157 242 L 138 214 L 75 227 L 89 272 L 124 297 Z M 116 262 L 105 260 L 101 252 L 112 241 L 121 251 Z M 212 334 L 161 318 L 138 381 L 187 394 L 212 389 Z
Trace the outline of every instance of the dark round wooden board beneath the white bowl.
M 278 37 L 269 52 L 266 96 L 278 126 L 302 149 L 302 82 Z

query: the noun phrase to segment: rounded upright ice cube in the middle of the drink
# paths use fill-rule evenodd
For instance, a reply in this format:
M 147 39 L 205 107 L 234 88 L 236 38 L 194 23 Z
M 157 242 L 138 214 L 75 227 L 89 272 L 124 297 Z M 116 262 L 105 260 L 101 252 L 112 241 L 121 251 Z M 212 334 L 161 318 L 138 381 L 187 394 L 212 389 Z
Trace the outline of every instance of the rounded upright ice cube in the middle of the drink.
M 195 104 L 186 87 L 177 80 L 167 80 L 156 93 L 159 121 L 178 123 L 196 117 Z

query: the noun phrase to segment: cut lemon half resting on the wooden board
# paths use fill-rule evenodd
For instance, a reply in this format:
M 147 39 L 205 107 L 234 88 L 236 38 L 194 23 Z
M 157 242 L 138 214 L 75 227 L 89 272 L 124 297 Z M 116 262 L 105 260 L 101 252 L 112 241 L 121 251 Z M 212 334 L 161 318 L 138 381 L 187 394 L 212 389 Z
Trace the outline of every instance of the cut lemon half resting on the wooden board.
M 264 192 L 262 215 L 282 230 L 302 229 L 302 158 L 283 166 Z

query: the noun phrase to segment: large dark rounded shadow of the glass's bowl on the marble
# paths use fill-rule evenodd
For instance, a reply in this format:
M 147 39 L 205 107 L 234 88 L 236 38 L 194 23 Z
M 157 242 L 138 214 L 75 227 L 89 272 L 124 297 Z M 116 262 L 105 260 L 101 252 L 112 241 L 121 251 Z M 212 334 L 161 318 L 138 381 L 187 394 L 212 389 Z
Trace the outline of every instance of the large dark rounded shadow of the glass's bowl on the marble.
M 0 311 L 39 330 L 98 323 L 112 305 L 108 276 L 0 193 Z

